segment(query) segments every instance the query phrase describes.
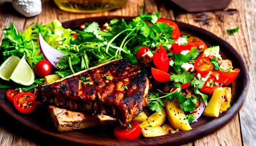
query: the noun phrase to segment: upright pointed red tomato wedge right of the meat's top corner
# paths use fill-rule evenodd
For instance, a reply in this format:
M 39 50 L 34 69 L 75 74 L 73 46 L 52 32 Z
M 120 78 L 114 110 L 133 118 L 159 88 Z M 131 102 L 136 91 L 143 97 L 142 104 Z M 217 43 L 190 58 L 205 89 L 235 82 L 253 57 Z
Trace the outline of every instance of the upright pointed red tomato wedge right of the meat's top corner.
M 153 62 L 157 69 L 167 72 L 169 69 L 169 58 L 162 44 L 160 44 L 153 55 Z

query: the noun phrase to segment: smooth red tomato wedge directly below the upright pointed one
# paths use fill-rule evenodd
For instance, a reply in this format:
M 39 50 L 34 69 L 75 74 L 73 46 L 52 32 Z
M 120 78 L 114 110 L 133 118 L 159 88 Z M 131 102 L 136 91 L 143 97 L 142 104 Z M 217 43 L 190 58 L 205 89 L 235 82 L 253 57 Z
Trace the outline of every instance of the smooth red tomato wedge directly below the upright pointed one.
M 171 77 L 170 74 L 160 71 L 159 69 L 155 69 L 153 67 L 151 67 L 151 72 L 154 79 L 157 80 L 158 82 L 170 82 L 170 77 Z

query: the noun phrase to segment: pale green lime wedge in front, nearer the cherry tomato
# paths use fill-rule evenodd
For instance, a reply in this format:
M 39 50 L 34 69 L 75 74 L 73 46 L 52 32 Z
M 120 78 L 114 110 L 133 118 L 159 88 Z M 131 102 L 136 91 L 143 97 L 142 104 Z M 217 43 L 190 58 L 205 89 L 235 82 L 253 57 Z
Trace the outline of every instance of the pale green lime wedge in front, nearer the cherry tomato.
M 24 86 L 29 86 L 34 83 L 35 74 L 33 69 L 26 62 L 23 56 L 11 74 L 10 80 Z

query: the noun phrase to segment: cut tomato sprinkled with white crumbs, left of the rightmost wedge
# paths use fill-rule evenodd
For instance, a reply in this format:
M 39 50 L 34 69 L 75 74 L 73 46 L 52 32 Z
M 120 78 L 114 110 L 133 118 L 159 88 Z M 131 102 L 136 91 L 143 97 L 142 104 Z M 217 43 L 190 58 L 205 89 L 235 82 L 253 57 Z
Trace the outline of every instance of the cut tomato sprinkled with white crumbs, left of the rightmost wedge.
M 216 88 L 223 86 L 223 78 L 220 73 L 216 71 L 207 71 L 202 74 L 202 77 L 207 79 L 204 86 L 199 89 L 199 91 L 202 91 L 205 94 L 211 94 Z

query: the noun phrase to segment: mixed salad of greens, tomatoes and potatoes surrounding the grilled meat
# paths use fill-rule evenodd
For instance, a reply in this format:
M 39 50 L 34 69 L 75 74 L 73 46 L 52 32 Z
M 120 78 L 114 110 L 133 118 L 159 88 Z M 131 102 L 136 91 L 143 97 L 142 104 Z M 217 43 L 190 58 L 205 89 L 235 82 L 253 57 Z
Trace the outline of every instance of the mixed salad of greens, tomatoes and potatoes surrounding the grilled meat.
M 148 67 L 153 88 L 147 106 L 153 114 L 142 112 L 134 117 L 130 124 L 134 128 L 119 126 L 114 130 L 118 139 L 129 139 L 129 133 L 137 135 L 132 138 L 135 139 L 140 133 L 154 137 L 190 130 L 189 124 L 201 115 L 218 117 L 230 107 L 231 88 L 225 86 L 236 79 L 240 70 L 233 69 L 230 60 L 221 58 L 219 46 L 207 47 L 200 38 L 181 35 L 177 24 L 159 18 L 159 13 L 141 14 L 131 22 L 85 22 L 79 30 L 64 29 L 58 20 L 33 26 L 21 33 L 10 23 L 10 28 L 3 30 L 0 52 L 1 62 L 11 55 L 25 56 L 36 74 L 34 83 L 22 86 L 7 82 L 9 86 L 1 85 L 2 88 L 26 93 L 36 84 L 117 58 Z M 18 98 L 16 94 L 20 95 L 14 92 L 8 93 L 12 101 Z

